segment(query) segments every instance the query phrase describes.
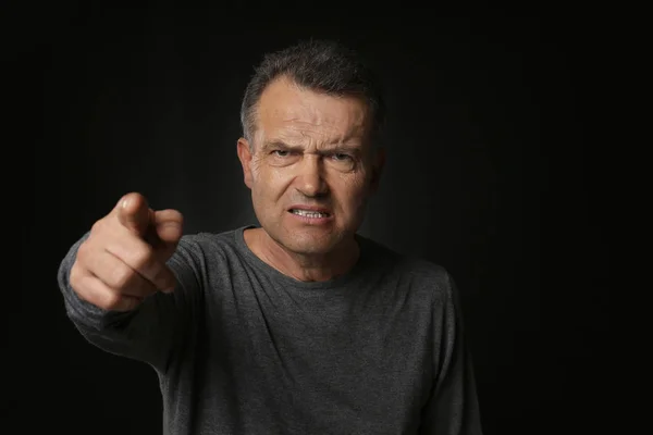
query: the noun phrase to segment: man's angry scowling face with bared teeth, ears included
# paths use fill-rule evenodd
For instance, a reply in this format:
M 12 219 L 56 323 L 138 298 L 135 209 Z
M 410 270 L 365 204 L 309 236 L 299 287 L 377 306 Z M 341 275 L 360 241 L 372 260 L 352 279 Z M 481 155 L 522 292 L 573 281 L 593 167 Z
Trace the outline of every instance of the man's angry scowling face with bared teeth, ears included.
M 362 101 L 270 84 L 258 104 L 254 144 L 238 140 L 245 184 L 272 239 L 305 254 L 353 236 L 378 186 L 383 153 L 371 150 Z M 249 151 L 251 145 L 252 151 Z M 306 214 L 320 208 L 325 214 Z

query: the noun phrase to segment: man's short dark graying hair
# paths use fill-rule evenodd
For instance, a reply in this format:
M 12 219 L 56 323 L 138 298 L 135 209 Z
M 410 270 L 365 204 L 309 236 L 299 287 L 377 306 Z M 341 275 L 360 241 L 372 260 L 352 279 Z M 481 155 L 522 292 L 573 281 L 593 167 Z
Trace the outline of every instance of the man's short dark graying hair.
M 333 40 L 308 40 L 266 54 L 255 69 L 241 107 L 243 135 L 250 147 L 261 95 L 268 85 L 281 77 L 318 92 L 364 100 L 371 115 L 372 144 L 378 145 L 385 122 L 385 104 L 373 71 L 350 48 Z

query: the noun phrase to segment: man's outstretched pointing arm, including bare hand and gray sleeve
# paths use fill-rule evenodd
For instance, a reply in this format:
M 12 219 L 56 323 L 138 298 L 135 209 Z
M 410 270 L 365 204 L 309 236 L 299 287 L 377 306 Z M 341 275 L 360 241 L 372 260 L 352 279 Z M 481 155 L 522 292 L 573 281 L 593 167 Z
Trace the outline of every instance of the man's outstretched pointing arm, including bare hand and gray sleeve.
M 193 336 L 201 260 L 182 238 L 182 220 L 130 194 L 71 247 L 58 282 L 67 316 L 88 341 L 165 371 Z

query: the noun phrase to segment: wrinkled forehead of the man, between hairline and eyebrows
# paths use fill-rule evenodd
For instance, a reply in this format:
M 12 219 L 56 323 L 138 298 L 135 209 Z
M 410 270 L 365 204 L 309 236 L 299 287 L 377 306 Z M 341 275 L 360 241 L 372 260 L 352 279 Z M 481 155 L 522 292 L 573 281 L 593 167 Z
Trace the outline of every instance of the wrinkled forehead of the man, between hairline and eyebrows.
M 260 133 L 267 139 L 362 141 L 368 128 L 367 107 L 360 99 L 320 94 L 286 78 L 266 88 L 257 112 Z

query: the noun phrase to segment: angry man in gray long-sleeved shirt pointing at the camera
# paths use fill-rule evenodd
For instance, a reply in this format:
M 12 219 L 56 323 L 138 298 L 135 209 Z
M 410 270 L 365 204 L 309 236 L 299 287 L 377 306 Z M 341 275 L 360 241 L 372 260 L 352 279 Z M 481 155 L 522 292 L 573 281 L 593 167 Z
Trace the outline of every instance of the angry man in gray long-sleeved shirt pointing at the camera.
M 182 236 L 132 192 L 73 245 L 66 312 L 157 371 L 165 434 L 481 433 L 451 277 L 357 234 L 383 116 L 353 52 L 269 54 L 237 141 L 260 226 Z

